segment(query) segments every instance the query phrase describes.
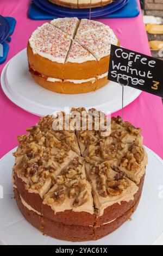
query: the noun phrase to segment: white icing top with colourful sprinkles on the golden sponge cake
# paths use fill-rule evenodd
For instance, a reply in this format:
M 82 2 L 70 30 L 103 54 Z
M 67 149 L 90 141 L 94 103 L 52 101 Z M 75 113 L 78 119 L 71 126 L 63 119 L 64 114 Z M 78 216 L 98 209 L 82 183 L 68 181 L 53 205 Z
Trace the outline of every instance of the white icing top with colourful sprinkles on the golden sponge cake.
M 77 18 L 63 18 L 37 28 L 29 39 L 34 54 L 58 63 L 82 63 L 108 56 L 111 44 L 117 45 L 116 35 L 103 23 L 83 19 L 76 33 L 78 23 Z

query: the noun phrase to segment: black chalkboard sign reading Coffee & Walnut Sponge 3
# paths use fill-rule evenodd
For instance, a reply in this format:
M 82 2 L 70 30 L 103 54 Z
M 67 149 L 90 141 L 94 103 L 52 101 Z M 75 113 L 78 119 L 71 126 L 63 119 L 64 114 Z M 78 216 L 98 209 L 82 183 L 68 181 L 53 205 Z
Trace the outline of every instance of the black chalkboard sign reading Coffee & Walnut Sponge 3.
M 128 86 L 163 97 L 163 62 L 145 54 L 111 45 L 108 79 L 124 77 Z

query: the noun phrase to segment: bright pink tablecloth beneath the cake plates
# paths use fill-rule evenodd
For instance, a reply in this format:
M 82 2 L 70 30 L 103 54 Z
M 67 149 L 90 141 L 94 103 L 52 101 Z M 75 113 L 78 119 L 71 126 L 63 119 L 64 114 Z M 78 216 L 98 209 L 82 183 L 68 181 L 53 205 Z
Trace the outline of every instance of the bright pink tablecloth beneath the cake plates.
M 30 0 L 1 0 L 0 14 L 17 20 L 15 32 L 10 42 L 8 60 L 27 46 L 29 36 L 44 21 L 27 18 Z M 111 26 L 121 41 L 121 45 L 144 54 L 151 54 L 142 16 L 133 19 L 103 19 Z M 0 65 L 0 72 L 3 66 Z M 16 147 L 16 136 L 26 132 L 26 127 L 34 125 L 39 117 L 30 114 L 12 103 L 0 90 L 0 157 Z M 73 102 L 72 102 L 73 106 Z M 120 112 L 114 115 L 121 114 Z M 124 119 L 142 128 L 144 144 L 163 158 L 163 107 L 160 97 L 142 93 L 133 103 L 124 108 Z

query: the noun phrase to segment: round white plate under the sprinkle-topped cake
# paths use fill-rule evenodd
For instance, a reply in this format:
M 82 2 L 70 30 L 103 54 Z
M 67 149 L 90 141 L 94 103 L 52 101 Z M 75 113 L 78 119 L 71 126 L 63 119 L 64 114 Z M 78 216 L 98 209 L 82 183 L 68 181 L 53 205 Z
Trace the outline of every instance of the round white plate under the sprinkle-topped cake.
M 111 113 L 122 108 L 122 88 L 114 82 L 96 92 L 86 94 L 58 94 L 43 89 L 33 80 L 28 71 L 26 49 L 17 53 L 2 71 L 1 84 L 3 92 L 17 106 L 26 111 L 47 115 L 64 107 L 97 108 Z M 124 106 L 134 101 L 141 91 L 124 88 Z

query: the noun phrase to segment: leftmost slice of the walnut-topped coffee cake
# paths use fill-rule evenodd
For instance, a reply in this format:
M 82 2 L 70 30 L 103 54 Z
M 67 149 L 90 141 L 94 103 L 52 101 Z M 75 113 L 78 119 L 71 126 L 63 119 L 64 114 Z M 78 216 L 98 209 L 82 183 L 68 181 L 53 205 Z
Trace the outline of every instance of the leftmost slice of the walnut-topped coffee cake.
M 57 175 L 77 157 L 77 153 L 53 135 L 51 115 L 29 127 L 27 135 L 18 136 L 14 181 L 22 198 L 41 211 L 43 196 L 55 184 Z M 34 200 L 32 200 L 32 197 Z

